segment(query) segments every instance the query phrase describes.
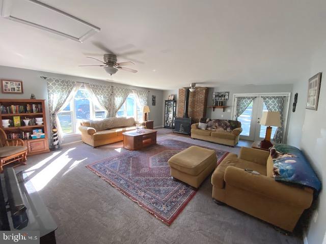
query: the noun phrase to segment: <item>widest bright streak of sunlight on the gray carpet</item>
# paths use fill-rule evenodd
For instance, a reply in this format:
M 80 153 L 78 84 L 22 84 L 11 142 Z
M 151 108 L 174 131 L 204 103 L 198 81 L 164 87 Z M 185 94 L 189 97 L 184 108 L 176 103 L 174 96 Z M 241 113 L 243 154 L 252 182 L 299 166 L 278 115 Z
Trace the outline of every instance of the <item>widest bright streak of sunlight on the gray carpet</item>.
M 30 182 L 33 184 L 36 191 L 42 190 L 50 180 L 55 177 L 71 160 L 69 152 L 74 150 L 75 147 L 68 149 L 56 160 L 47 165 L 39 173 L 37 173 Z

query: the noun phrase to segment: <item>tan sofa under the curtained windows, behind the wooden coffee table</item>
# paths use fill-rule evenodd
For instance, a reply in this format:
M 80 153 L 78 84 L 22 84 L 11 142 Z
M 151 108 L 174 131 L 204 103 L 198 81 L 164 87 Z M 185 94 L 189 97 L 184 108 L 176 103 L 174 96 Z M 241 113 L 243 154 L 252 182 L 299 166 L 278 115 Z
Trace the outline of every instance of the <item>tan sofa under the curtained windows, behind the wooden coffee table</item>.
M 83 142 L 93 146 L 101 146 L 123 140 L 122 133 L 136 129 L 134 118 L 104 118 L 87 120 L 80 123 Z

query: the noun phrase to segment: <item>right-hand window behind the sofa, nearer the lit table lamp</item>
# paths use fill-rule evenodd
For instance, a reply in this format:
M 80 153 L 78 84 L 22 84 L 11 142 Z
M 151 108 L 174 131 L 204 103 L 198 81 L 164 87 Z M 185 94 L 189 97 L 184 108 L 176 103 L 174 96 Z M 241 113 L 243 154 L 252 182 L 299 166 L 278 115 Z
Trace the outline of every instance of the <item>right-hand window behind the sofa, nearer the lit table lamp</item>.
M 136 98 L 133 93 L 130 93 L 126 101 L 122 104 L 117 112 L 117 117 L 133 117 L 137 121 L 143 121 L 143 111 L 137 105 Z

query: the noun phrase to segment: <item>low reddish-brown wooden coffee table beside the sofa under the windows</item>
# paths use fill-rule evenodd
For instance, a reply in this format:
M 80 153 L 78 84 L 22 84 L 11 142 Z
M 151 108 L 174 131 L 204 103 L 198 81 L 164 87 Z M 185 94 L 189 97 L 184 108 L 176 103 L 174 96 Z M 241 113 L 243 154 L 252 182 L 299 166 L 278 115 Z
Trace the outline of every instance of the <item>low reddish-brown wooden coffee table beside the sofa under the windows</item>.
M 156 144 L 155 130 L 143 129 L 143 133 L 134 131 L 127 131 L 123 135 L 123 147 L 128 150 L 139 150 L 143 147 Z

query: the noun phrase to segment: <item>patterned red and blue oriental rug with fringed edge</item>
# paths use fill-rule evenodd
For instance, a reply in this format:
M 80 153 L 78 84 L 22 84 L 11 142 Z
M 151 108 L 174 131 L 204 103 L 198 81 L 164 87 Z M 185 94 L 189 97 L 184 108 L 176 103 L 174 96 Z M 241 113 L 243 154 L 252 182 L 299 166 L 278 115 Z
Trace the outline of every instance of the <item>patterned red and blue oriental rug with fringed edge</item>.
M 165 139 L 142 150 L 128 151 L 86 167 L 156 218 L 171 225 L 195 196 L 196 190 L 171 179 L 168 160 L 192 145 L 183 141 Z M 228 152 L 214 150 L 218 157 L 216 163 L 218 165 Z

